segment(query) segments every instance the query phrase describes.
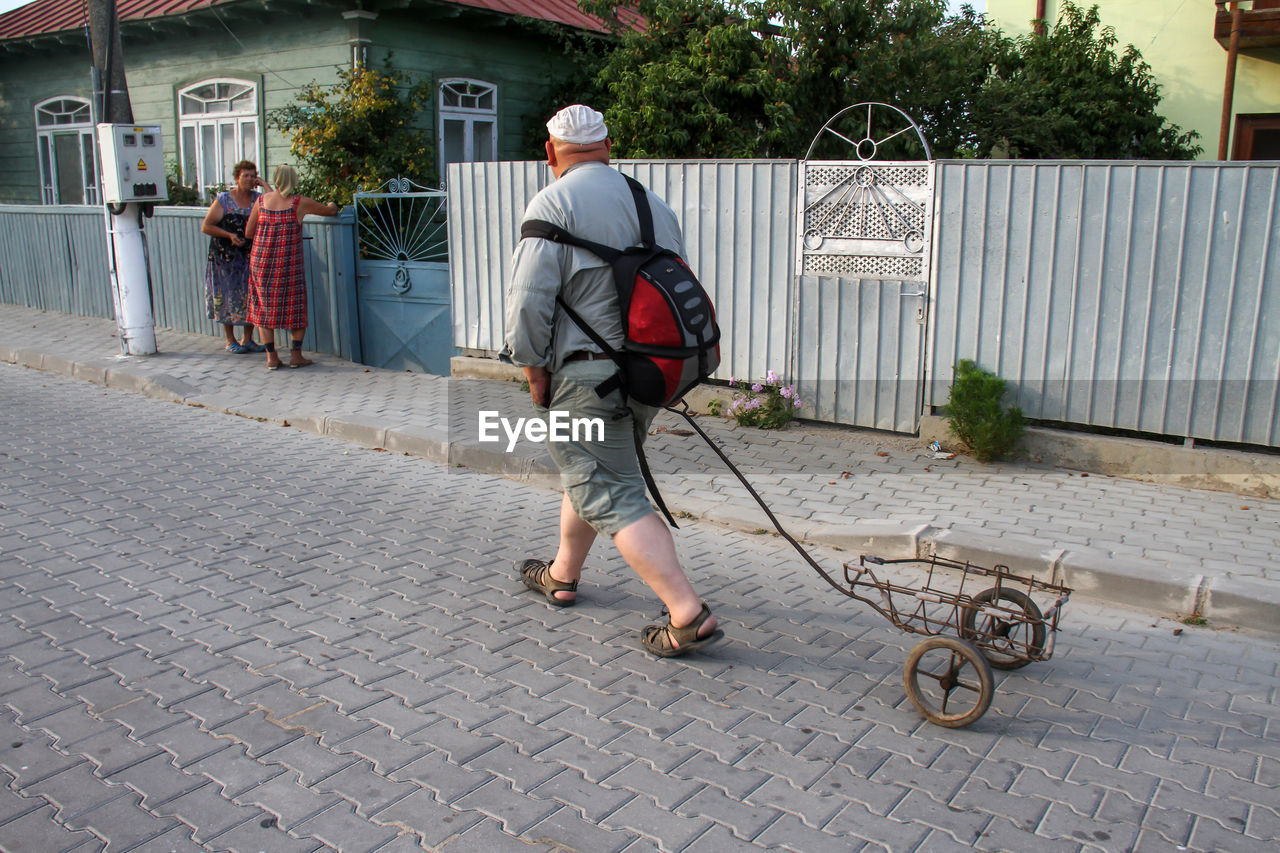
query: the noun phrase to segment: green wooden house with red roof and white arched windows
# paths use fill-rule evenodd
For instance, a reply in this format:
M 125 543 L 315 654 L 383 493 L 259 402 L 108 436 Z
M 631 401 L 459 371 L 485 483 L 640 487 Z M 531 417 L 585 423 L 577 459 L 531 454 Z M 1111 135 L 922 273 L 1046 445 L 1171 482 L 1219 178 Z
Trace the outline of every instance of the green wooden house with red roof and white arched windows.
M 563 55 L 549 29 L 602 31 L 573 0 L 119 0 L 133 118 L 159 124 L 184 183 L 292 161 L 270 110 L 388 56 L 431 81 L 419 122 L 444 164 L 526 158 L 524 128 Z M 96 204 L 84 0 L 0 15 L 0 204 Z M 406 175 L 415 177 L 415 175 Z

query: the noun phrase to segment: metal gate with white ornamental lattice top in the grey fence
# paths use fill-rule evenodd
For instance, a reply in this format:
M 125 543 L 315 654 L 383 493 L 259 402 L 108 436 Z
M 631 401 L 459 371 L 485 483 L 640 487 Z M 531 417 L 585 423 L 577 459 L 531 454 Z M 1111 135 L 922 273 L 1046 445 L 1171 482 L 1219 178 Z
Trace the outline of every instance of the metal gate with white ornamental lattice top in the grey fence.
M 919 429 L 933 178 L 928 160 L 800 163 L 792 364 L 808 416 Z

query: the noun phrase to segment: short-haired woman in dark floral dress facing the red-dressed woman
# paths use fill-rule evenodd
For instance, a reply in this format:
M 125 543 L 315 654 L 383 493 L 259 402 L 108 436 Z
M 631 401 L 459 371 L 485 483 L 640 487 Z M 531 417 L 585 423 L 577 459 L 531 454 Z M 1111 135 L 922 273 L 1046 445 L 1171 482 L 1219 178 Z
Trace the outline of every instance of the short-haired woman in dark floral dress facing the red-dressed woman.
M 257 178 L 257 167 L 250 160 L 236 164 L 232 181 L 232 188 L 219 192 L 209 205 L 200 231 L 212 238 L 205 264 L 205 309 L 210 320 L 223 324 L 227 351 L 241 355 L 262 351 L 261 345 L 253 343 L 253 325 L 246 318 L 251 245 L 244 237 L 244 224 L 253 202 L 262 195 L 257 187 L 264 184 Z M 244 327 L 239 341 L 236 339 L 237 325 Z

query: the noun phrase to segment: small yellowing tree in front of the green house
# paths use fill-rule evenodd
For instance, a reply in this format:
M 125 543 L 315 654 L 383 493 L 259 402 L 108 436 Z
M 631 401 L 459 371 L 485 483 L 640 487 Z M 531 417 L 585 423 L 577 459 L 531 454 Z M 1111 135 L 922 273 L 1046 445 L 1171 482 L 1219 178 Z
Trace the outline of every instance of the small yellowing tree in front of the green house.
M 435 142 L 416 124 L 431 109 L 430 82 L 374 68 L 338 69 L 332 86 L 311 83 L 294 102 L 273 110 L 268 124 L 291 137 L 301 191 L 340 205 L 360 187 L 374 190 L 396 177 L 438 183 Z

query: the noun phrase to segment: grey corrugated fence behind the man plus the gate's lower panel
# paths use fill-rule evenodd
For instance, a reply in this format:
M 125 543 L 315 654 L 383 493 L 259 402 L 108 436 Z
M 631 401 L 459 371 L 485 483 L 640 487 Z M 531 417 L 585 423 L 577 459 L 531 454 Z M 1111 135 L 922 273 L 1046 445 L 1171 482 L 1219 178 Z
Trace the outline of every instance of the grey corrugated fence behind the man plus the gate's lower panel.
M 919 284 L 795 277 L 795 160 L 616 163 L 667 200 L 687 260 L 723 332 L 718 379 L 777 371 L 800 386 L 806 418 L 915 432 L 923 327 Z M 497 352 L 511 252 L 540 163 L 449 167 L 454 343 Z

